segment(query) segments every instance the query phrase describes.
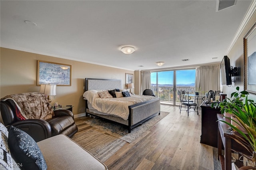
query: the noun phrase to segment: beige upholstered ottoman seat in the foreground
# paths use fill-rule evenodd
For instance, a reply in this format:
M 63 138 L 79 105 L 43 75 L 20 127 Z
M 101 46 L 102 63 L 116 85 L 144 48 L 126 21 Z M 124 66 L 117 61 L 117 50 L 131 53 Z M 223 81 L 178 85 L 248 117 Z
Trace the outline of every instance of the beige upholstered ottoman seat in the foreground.
M 107 170 L 90 152 L 65 135 L 57 135 L 37 142 L 47 170 Z

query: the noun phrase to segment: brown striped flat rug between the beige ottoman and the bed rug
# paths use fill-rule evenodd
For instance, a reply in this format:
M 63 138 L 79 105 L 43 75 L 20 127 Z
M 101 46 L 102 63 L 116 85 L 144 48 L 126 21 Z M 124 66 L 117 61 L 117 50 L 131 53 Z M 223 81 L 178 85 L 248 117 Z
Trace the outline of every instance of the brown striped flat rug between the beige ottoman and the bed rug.
M 108 158 L 126 144 L 124 140 L 92 129 L 76 133 L 72 137 L 72 140 L 102 162 L 108 160 Z

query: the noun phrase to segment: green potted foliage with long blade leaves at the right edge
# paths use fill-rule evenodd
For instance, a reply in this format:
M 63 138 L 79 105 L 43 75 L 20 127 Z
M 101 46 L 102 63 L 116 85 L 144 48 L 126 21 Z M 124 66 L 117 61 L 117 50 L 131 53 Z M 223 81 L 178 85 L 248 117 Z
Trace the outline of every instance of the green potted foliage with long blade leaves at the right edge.
M 231 94 L 231 97 L 234 97 L 232 100 L 227 99 L 219 102 L 218 106 L 221 108 L 222 113 L 226 111 L 234 115 L 237 120 L 225 117 L 239 124 L 243 130 L 240 130 L 238 126 L 234 126 L 230 122 L 220 121 L 228 124 L 235 131 L 233 139 L 252 154 L 246 155 L 238 152 L 252 161 L 251 166 L 241 167 L 240 170 L 256 169 L 256 103 L 248 99 L 248 92 L 239 92 L 239 87 L 236 90 L 237 92 Z

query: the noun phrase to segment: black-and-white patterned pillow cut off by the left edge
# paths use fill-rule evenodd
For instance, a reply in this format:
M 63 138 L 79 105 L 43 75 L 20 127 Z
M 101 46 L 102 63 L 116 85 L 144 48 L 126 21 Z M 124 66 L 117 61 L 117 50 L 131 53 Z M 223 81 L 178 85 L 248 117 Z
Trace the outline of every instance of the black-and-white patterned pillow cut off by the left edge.
M 13 170 L 14 162 L 8 146 L 8 133 L 7 128 L 0 123 L 0 169 L 3 167 L 6 170 Z

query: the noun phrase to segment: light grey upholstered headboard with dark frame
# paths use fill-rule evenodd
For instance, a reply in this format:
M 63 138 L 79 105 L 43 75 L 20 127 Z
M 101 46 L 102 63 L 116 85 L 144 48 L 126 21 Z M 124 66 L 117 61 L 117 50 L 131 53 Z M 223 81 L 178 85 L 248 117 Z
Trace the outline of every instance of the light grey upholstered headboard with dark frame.
M 112 90 L 122 88 L 121 80 L 85 78 L 85 90 Z

